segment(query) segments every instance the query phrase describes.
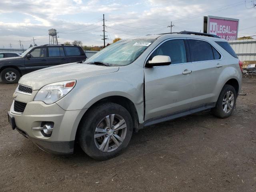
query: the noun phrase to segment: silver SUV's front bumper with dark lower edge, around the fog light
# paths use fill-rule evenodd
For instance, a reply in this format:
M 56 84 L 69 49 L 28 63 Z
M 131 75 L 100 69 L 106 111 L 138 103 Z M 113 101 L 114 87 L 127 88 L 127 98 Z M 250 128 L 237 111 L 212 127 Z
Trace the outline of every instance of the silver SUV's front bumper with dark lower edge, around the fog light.
M 54 154 L 70 154 L 74 150 L 78 124 L 85 112 L 86 109 L 66 111 L 56 103 L 47 105 L 32 101 L 26 104 L 23 113 L 14 111 L 13 102 L 9 115 L 14 117 L 16 130 L 40 149 Z M 44 122 L 54 123 L 50 137 L 44 136 L 40 130 L 32 130 L 41 127 Z

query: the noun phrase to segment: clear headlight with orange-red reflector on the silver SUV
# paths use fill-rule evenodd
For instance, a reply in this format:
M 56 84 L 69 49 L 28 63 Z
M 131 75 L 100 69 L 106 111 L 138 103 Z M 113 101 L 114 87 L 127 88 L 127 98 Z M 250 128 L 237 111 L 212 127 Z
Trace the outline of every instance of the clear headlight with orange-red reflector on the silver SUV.
M 34 97 L 34 101 L 43 101 L 46 104 L 52 104 L 68 92 L 70 92 L 76 85 L 76 80 L 56 82 L 43 86 Z

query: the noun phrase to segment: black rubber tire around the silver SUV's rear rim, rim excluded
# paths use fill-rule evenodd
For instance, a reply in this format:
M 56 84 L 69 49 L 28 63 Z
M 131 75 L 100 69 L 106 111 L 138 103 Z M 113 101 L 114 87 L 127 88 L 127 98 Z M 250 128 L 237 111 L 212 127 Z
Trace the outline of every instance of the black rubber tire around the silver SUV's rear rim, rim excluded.
M 234 95 L 234 104 L 232 106 L 232 109 L 229 112 L 224 112 L 224 109 L 223 109 L 224 105 L 222 102 L 223 102 L 224 96 L 226 95 L 226 93 L 228 91 L 231 91 Z M 220 92 L 216 106 L 214 108 L 212 108 L 212 114 L 218 118 L 229 117 L 232 114 L 232 112 L 236 106 L 236 98 L 237 98 L 237 95 L 236 95 L 236 90 L 234 89 L 234 87 L 231 85 L 224 85 L 224 87 L 222 88 L 222 90 Z

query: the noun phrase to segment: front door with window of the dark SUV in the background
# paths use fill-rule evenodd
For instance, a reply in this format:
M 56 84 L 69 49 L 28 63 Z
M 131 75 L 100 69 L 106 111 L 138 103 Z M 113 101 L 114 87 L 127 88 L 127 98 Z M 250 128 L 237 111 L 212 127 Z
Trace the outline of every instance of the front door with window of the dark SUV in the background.
M 31 52 L 31 58 L 25 58 L 26 73 L 48 67 L 48 53 L 46 47 L 38 47 Z

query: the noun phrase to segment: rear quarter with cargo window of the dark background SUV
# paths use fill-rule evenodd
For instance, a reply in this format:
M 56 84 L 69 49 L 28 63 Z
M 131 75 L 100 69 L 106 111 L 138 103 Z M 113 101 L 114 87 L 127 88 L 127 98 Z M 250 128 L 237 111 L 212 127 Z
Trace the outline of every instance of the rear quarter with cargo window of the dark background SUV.
M 79 62 L 86 59 L 84 51 L 78 46 L 64 46 L 64 51 L 68 63 Z

